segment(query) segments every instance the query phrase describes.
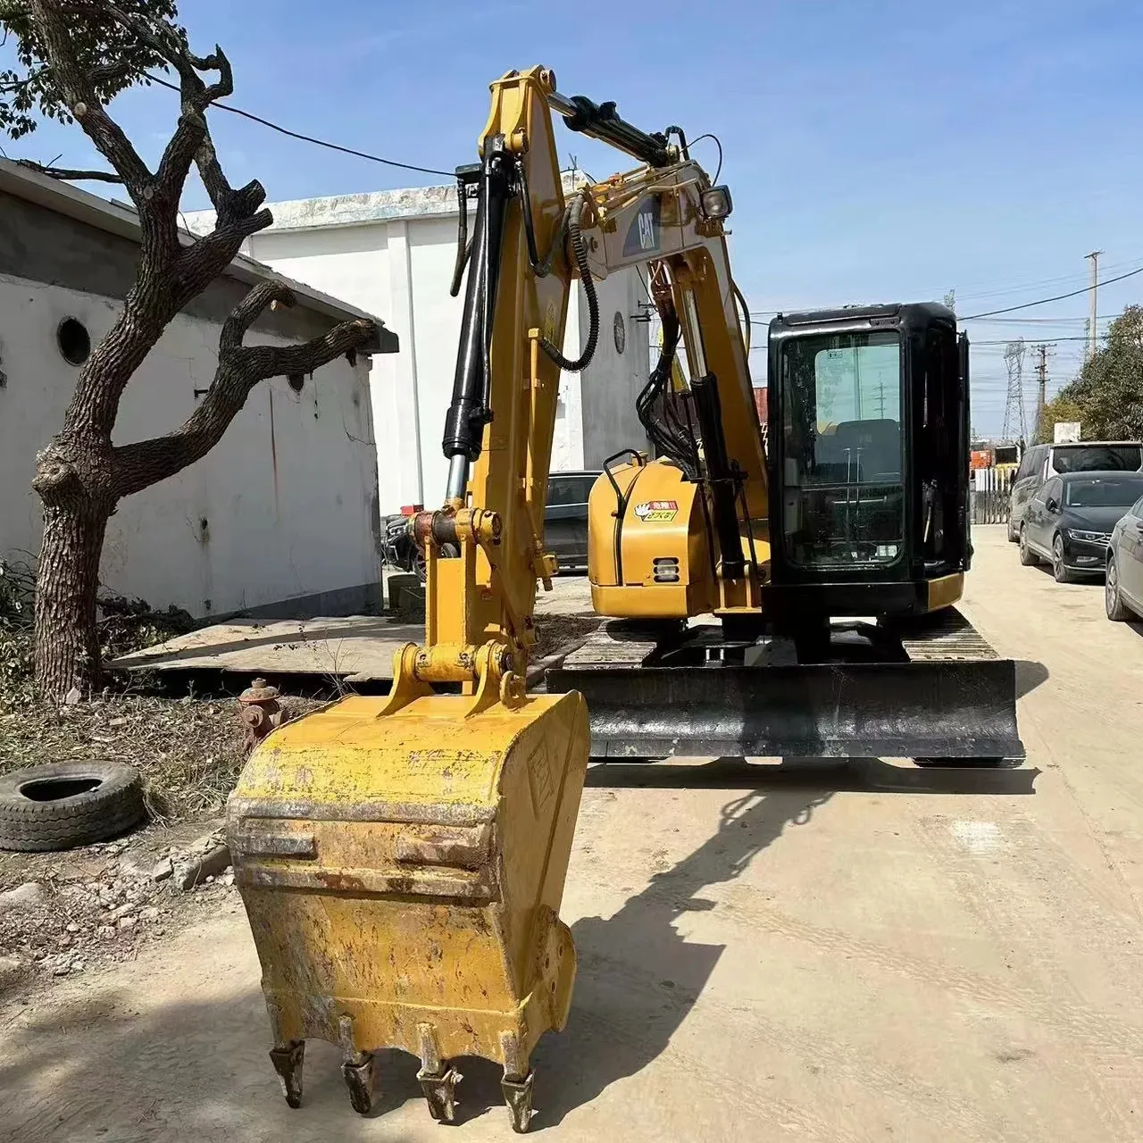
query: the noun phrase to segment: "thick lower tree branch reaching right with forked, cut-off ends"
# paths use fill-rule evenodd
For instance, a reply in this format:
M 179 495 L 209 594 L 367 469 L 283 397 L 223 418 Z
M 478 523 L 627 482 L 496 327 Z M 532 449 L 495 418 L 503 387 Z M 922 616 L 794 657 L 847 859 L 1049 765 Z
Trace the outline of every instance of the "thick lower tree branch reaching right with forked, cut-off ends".
M 303 345 L 246 345 L 245 337 L 271 305 L 294 305 L 282 282 L 259 282 L 234 307 L 218 339 L 218 369 L 202 403 L 173 433 L 125 445 L 112 451 L 117 496 L 150 488 L 201 459 L 222 439 L 250 391 L 269 377 L 313 373 L 363 345 L 375 333 L 371 321 L 343 321 Z

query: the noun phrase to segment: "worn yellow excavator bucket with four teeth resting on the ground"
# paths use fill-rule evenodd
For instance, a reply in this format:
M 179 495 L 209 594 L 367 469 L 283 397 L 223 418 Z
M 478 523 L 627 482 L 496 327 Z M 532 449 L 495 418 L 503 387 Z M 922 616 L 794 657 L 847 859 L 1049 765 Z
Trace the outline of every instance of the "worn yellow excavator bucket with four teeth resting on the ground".
M 255 750 L 227 828 L 290 1106 L 321 1039 L 362 1114 L 375 1053 L 401 1048 L 434 1119 L 454 1118 L 453 1061 L 481 1056 L 527 1130 L 529 1054 L 572 1001 L 558 911 L 586 764 L 576 694 L 354 696 Z

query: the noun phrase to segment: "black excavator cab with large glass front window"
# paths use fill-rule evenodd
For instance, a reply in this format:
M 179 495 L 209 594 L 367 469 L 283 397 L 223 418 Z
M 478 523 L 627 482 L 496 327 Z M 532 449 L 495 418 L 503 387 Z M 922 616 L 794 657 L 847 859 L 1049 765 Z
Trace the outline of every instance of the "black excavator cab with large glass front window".
M 766 612 L 909 620 L 960 599 L 968 341 L 934 303 L 778 315 L 769 329 Z

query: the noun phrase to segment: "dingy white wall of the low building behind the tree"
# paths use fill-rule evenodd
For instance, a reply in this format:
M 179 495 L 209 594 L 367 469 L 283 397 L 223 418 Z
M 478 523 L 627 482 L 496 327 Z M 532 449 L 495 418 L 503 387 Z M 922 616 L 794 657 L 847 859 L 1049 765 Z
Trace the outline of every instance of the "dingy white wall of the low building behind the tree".
M 0 555 L 39 550 L 35 453 L 63 423 L 78 375 L 56 329 L 77 318 L 97 344 L 118 307 L 0 274 Z M 176 318 L 128 386 L 115 442 L 176 429 L 214 376 L 217 344 L 216 322 Z M 321 610 L 362 606 L 379 575 L 369 362 L 341 358 L 299 393 L 285 378 L 258 385 L 205 459 L 120 504 L 104 584 L 195 616 L 322 593 L 335 596 Z

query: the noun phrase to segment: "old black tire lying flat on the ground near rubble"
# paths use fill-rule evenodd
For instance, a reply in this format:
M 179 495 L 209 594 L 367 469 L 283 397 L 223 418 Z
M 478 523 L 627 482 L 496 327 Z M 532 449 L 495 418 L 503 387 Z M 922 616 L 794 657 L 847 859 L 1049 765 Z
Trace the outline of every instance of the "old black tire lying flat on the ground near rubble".
M 0 777 L 0 849 L 87 846 L 145 814 L 138 770 L 119 762 L 53 762 Z

